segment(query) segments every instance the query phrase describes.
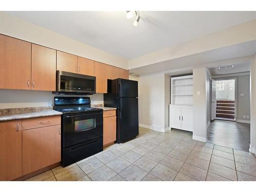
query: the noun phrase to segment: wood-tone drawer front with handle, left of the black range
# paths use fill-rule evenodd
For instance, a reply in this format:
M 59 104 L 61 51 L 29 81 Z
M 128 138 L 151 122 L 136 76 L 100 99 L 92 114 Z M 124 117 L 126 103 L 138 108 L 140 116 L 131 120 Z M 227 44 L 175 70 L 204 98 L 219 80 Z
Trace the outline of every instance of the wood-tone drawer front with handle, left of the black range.
M 22 130 L 30 130 L 30 129 L 44 127 L 44 126 L 57 125 L 57 124 L 60 124 L 60 122 L 61 122 L 60 116 L 23 119 Z

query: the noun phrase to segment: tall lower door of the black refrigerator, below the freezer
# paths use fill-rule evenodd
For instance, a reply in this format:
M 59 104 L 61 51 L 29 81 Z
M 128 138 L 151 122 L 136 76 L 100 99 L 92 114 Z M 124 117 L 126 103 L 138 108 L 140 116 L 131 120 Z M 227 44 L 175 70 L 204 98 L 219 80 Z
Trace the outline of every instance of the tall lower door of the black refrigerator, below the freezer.
M 138 98 L 119 98 L 119 104 L 117 143 L 122 143 L 139 135 Z

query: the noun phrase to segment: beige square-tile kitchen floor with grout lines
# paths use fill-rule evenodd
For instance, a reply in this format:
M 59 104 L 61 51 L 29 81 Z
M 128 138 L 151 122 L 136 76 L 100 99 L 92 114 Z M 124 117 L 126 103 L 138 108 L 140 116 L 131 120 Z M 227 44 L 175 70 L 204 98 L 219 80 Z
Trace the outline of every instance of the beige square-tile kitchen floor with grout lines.
M 114 144 L 29 181 L 256 181 L 256 157 L 192 139 L 190 132 L 155 132 Z

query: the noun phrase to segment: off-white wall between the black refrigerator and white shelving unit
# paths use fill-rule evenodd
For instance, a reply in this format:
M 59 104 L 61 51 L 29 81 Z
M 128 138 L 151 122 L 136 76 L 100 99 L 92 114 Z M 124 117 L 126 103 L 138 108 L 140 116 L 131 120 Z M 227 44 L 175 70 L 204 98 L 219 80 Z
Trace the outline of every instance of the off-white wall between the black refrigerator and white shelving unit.
M 168 127 L 169 81 L 165 74 L 139 77 L 140 126 L 161 132 Z

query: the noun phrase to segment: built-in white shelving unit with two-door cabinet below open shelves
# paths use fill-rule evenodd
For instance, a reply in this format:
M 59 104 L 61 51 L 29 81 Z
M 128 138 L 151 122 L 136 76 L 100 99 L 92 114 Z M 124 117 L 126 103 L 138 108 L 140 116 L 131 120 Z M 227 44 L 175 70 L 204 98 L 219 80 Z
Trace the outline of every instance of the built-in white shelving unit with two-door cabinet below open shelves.
M 170 79 L 169 127 L 193 131 L 193 75 Z

